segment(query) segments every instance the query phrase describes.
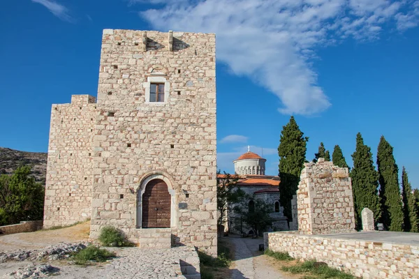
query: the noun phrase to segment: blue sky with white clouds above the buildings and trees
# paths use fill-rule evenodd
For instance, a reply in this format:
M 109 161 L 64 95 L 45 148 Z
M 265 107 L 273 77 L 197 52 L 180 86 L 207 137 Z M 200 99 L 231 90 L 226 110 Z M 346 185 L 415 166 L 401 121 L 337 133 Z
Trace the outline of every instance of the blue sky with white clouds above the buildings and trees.
M 51 105 L 96 96 L 103 29 L 216 33 L 218 165 L 247 151 L 277 174 L 282 126 L 394 146 L 419 188 L 418 0 L 15 0 L 0 3 L 0 146 L 47 151 Z M 263 151 L 262 151 L 263 149 Z

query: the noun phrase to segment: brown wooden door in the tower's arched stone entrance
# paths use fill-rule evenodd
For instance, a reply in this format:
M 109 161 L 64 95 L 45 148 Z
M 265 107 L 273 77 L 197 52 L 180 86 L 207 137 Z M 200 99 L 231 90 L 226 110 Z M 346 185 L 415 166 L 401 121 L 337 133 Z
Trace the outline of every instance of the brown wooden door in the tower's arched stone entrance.
M 166 182 L 149 181 L 142 194 L 142 227 L 170 227 L 170 200 Z

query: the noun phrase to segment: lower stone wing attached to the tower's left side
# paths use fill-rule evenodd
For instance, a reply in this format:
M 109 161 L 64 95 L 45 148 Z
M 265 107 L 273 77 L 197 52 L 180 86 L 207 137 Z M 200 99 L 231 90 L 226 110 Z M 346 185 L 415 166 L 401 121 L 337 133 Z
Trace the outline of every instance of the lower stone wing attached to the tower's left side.
M 44 227 L 90 218 L 96 98 L 72 96 L 52 105 L 45 183 Z

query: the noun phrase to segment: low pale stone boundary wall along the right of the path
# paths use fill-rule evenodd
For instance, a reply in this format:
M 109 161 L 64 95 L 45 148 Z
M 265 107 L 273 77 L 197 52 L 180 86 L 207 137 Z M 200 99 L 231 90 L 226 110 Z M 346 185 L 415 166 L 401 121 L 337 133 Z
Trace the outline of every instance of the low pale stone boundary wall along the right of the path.
M 362 278 L 419 278 L 419 246 L 332 239 L 295 232 L 264 234 L 265 249 L 316 259 Z

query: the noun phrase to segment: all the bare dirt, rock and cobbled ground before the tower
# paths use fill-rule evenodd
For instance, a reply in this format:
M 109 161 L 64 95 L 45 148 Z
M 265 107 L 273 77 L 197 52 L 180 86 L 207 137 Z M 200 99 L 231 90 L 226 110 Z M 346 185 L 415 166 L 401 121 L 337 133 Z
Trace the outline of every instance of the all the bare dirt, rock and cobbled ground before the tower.
M 199 263 L 195 250 L 186 246 L 154 250 L 133 247 L 107 248 L 117 257 L 105 263 L 78 266 L 72 262 L 71 252 L 87 246 L 88 238 L 89 222 L 64 229 L 0 236 L 0 278 L 185 278 L 179 259 L 183 259 L 182 264 L 191 264 L 186 264 L 189 273 L 196 273 L 194 266 Z

